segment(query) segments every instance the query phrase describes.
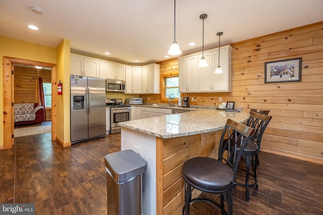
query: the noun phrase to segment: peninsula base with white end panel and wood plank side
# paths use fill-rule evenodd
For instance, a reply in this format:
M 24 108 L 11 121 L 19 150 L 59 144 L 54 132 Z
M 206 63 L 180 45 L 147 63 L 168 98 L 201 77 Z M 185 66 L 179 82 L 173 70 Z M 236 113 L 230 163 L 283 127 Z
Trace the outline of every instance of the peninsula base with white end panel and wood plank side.
M 184 180 L 182 165 L 189 158 L 216 158 L 222 129 L 174 138 L 160 138 L 122 127 L 121 150 L 140 147 L 148 161 L 144 174 L 143 214 L 182 214 Z M 200 192 L 193 192 L 192 197 Z

